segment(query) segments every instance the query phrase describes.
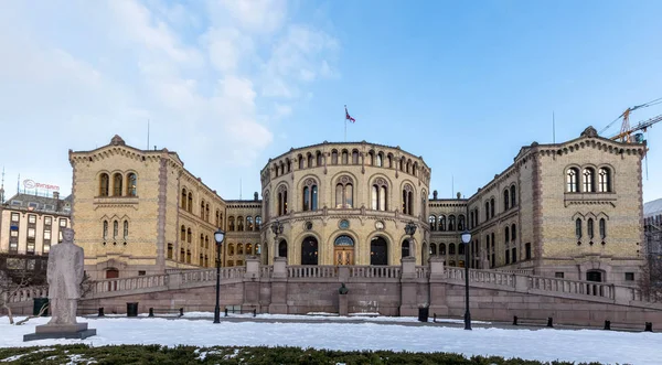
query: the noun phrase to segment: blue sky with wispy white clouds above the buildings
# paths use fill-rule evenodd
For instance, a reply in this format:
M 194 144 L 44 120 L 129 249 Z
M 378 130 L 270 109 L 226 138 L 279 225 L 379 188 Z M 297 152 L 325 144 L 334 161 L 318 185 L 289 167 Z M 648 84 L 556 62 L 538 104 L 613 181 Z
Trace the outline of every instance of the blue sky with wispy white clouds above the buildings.
M 522 146 L 662 97 L 659 1 L 13 1 L 0 14 L 0 164 L 71 190 L 67 150 L 118 133 L 178 151 L 225 198 L 290 147 L 401 146 L 441 196 Z M 638 110 L 631 122 L 661 115 Z M 606 135 L 619 130 L 617 122 Z M 55 133 L 57 131 L 57 133 Z M 21 136 L 7 138 L 7 136 Z M 662 197 L 662 125 L 644 201 Z M 26 150 L 26 155 L 12 151 Z M 23 179 L 23 178 L 22 178 Z

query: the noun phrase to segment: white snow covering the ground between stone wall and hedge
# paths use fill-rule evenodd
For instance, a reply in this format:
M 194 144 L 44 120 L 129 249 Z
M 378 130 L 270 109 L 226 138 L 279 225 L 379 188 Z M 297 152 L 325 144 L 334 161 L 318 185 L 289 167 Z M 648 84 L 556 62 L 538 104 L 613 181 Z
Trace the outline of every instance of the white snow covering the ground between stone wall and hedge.
M 209 313 L 206 313 L 209 314 Z M 185 315 L 186 316 L 186 315 Z M 86 340 L 40 340 L 23 342 L 23 334 L 34 333 L 34 326 L 49 318 L 33 319 L 24 325 L 10 325 L 0 318 L 1 347 L 49 346 L 87 343 L 94 346 L 114 344 L 189 344 L 197 346 L 300 346 L 330 350 L 393 350 L 409 352 L 455 352 L 471 355 L 498 355 L 538 361 L 600 362 L 605 364 L 660 364 L 660 333 L 630 333 L 599 330 L 510 330 L 474 328 L 465 331 L 442 325 L 385 324 L 395 318 L 381 318 L 381 323 L 367 321 L 340 323 L 297 323 L 306 315 L 258 315 L 274 322 L 212 323 L 206 320 L 163 318 L 79 318 L 88 322 L 97 335 Z M 199 315 L 199 318 L 202 314 Z M 374 319 L 373 319 L 374 320 Z M 406 319 L 415 321 L 414 318 Z M 201 354 L 202 355 L 202 354 Z

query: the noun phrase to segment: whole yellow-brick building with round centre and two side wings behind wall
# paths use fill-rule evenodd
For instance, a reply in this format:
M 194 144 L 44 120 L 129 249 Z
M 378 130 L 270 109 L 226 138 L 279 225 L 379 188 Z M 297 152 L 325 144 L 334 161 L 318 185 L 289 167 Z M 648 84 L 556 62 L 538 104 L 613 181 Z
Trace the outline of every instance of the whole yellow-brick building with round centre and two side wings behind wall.
M 225 200 L 175 152 L 115 136 L 95 150 L 70 150 L 72 225 L 94 279 L 214 267 L 213 234 L 222 228 L 223 266 L 249 256 L 264 265 L 287 257 L 292 266 L 442 257 L 448 266 L 634 285 L 645 262 L 645 148 L 589 127 L 566 142 L 522 147 L 473 195 L 445 198 L 430 191 L 421 157 L 366 141 L 323 142 L 269 159 L 253 200 Z

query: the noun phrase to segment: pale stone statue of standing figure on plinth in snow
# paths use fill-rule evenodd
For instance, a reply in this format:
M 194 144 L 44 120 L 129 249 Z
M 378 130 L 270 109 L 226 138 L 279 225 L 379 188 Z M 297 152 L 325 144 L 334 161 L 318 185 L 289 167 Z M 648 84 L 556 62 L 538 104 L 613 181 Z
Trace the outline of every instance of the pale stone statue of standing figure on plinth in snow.
M 87 323 L 76 322 L 76 310 L 83 281 L 83 248 L 74 245 L 74 230 L 64 228 L 62 243 L 49 253 L 49 305 L 51 321 L 38 325 L 35 333 L 23 335 L 23 341 L 43 339 L 86 339 L 96 335 Z

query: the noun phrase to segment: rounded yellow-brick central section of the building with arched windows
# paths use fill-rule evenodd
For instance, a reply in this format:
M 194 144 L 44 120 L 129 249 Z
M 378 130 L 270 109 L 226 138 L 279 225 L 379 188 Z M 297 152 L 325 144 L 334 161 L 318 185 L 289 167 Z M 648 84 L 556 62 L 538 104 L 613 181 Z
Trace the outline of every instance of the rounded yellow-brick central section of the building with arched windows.
M 425 247 L 430 169 L 399 147 L 291 149 L 260 172 L 263 264 L 399 265 Z M 413 223 L 414 235 L 405 232 Z M 423 245 L 423 246 L 421 246 Z M 266 255 L 265 255 L 266 254 Z

